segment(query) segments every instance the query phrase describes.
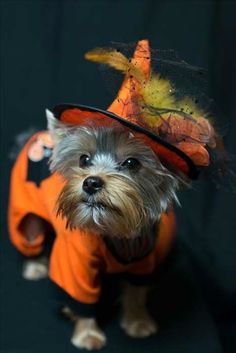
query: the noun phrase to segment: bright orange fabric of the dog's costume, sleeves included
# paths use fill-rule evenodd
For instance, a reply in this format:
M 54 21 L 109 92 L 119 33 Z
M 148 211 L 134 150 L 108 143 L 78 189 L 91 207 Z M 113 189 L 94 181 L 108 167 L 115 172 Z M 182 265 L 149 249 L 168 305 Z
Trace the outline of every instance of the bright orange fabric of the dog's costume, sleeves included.
M 9 230 L 12 243 L 26 256 L 42 251 L 44 235 L 28 243 L 19 231 L 19 224 L 28 213 L 34 213 L 50 222 L 56 232 L 51 259 L 50 278 L 74 299 L 95 303 L 100 295 L 99 273 L 129 272 L 148 274 L 164 259 L 175 236 L 175 217 L 172 211 L 161 216 L 156 246 L 143 260 L 131 264 L 119 263 L 108 250 L 104 240 L 80 230 L 66 229 L 66 220 L 56 216 L 55 203 L 64 185 L 54 173 L 39 186 L 27 181 L 28 155 L 37 140 L 36 134 L 21 151 L 12 171 Z M 35 162 L 37 163 L 37 162 Z

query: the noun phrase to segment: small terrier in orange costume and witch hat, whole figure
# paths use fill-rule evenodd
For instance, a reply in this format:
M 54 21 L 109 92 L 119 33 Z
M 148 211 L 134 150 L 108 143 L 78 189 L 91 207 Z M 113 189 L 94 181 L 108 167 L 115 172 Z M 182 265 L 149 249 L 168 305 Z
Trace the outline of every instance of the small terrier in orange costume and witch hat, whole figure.
M 68 294 L 72 343 L 90 350 L 106 343 L 93 311 L 101 273 L 154 273 L 174 243 L 176 193 L 196 166 L 209 164 L 205 145 L 215 146 L 215 132 L 189 99 L 173 97 L 169 81 L 150 76 L 148 41 L 130 60 L 110 49 L 88 57 L 126 73 L 118 97 L 107 111 L 47 111 L 48 131 L 30 138 L 12 171 L 9 229 L 30 257 L 27 279 L 47 275 L 47 260 L 32 257 L 56 233 L 49 276 Z M 148 287 L 131 283 L 123 288 L 121 327 L 147 337 L 157 331 L 146 308 Z

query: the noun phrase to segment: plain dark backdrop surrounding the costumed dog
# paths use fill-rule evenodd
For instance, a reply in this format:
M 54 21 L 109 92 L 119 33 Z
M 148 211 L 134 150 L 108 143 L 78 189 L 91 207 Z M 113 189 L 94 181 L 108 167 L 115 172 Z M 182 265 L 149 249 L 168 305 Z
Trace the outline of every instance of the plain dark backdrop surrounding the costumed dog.
M 236 153 L 236 3 L 234 1 L 1 1 L 1 342 L 4 353 L 76 352 L 72 327 L 56 315 L 49 283 L 21 278 L 6 211 L 8 155 L 17 134 L 45 128 L 44 110 L 61 102 L 106 108 L 111 97 L 83 53 L 112 41 L 149 38 L 209 71 L 209 95 Z M 226 130 L 225 130 L 226 131 Z M 223 132 L 225 132 L 223 131 Z M 180 250 L 151 298 L 161 325 L 147 340 L 125 337 L 115 316 L 106 352 L 236 351 L 235 194 L 201 181 L 181 195 Z

